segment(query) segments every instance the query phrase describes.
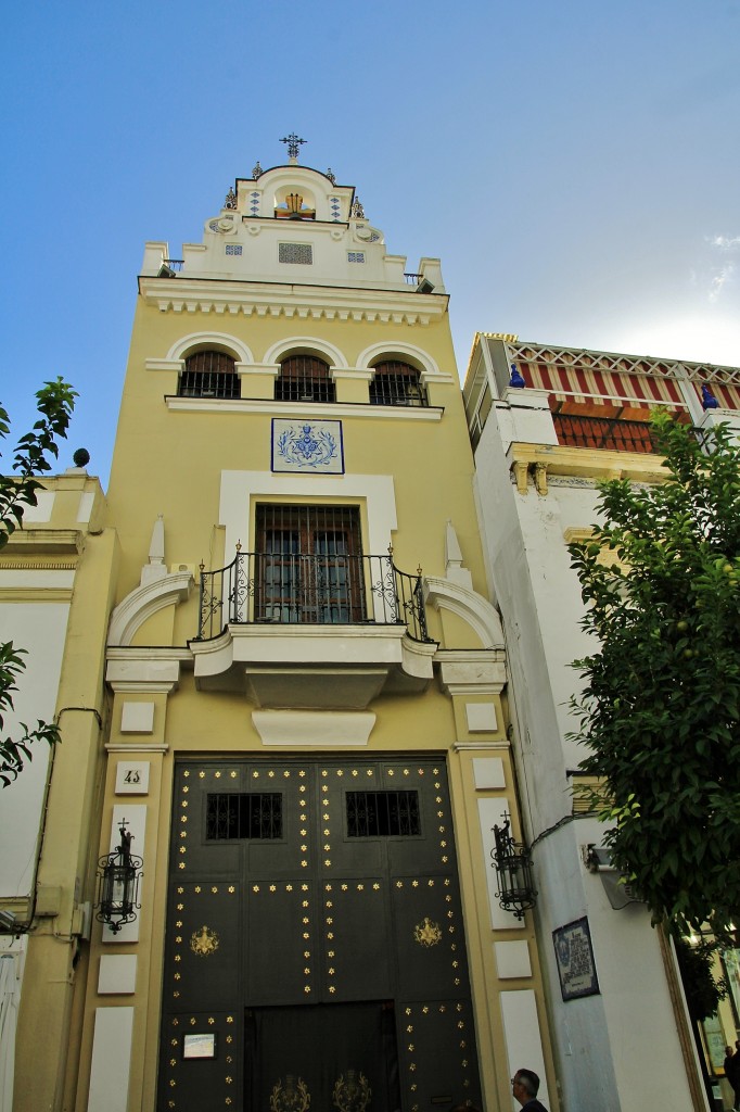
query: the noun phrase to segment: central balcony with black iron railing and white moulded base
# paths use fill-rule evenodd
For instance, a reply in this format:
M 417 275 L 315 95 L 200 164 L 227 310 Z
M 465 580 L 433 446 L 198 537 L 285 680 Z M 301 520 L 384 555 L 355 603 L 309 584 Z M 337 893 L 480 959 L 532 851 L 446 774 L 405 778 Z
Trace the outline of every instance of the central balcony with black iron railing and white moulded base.
M 190 642 L 200 689 L 269 708 L 364 709 L 432 679 L 422 578 L 392 555 L 237 552 L 201 569 Z

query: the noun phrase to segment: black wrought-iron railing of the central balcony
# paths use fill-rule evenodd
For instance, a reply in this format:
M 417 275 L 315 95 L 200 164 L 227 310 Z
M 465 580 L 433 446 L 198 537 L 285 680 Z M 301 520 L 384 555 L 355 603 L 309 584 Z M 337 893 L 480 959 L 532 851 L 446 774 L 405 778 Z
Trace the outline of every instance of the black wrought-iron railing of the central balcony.
M 200 574 L 197 641 L 227 625 L 394 625 L 430 642 L 421 573 L 387 556 L 246 553 Z

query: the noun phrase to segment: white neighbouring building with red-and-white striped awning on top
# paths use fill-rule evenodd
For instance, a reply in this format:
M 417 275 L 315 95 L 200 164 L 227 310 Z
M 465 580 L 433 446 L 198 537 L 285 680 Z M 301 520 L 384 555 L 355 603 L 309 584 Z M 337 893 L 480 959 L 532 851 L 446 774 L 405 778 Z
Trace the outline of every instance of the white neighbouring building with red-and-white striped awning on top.
M 523 386 L 511 385 L 512 365 Z M 580 628 L 583 604 L 567 549 L 596 519 L 598 479 L 660 480 L 646 425 L 657 404 L 704 427 L 738 423 L 729 409 L 704 414 L 702 384 L 721 405 L 740 408 L 740 370 L 546 348 L 513 336 L 478 334 L 468 367 L 476 496 L 504 626 L 522 822 L 536 843 L 539 949 L 569 1110 L 707 1106 L 672 954 L 618 875 L 586 863 L 603 831 L 573 796 L 584 754 L 569 738 L 569 699 L 578 686 L 571 663 L 592 645 Z M 583 959 L 570 982 L 556 953 L 568 943 Z M 726 1032 L 726 1041 L 734 1036 Z

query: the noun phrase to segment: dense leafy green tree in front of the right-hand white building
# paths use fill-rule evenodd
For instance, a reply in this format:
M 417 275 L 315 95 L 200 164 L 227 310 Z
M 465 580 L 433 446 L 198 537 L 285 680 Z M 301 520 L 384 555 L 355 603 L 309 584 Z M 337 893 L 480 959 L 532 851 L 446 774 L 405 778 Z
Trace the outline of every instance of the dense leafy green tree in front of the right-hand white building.
M 740 458 L 652 423 L 666 480 L 601 485 L 603 524 L 570 546 L 598 638 L 574 666 L 581 768 L 601 777 L 614 864 L 653 922 L 740 925 Z

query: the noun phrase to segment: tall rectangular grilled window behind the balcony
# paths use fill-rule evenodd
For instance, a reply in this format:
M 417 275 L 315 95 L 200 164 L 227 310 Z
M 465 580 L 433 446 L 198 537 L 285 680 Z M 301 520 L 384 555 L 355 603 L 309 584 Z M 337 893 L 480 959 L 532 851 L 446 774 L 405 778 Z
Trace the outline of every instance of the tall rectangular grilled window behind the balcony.
M 358 507 L 258 506 L 257 573 L 258 622 L 363 620 Z

